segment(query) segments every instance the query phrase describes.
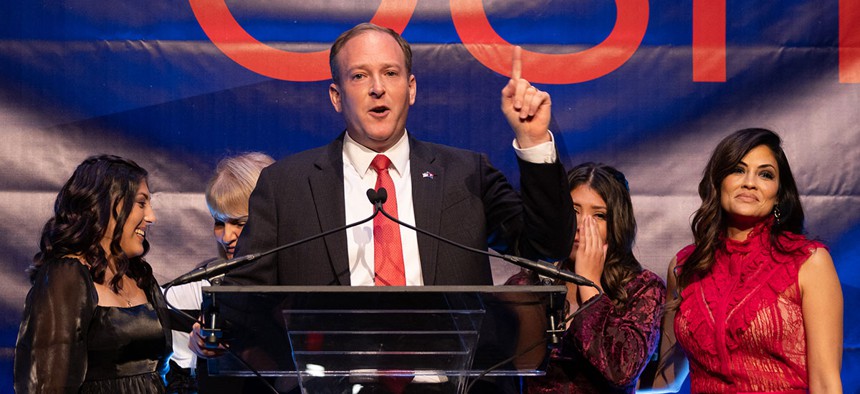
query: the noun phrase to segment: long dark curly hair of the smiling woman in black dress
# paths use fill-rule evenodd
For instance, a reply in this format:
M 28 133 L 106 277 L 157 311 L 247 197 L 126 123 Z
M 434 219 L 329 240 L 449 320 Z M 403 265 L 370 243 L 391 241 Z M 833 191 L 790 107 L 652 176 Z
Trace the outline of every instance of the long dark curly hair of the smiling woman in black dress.
M 143 254 L 129 258 L 120 247 L 122 232 L 134 207 L 135 196 L 147 172 L 137 163 L 112 155 L 91 156 L 81 163 L 60 189 L 54 202 L 54 216 L 42 228 L 39 253 L 28 269 L 30 281 L 42 265 L 70 255 L 80 255 L 88 264 L 95 283 L 113 291 L 122 288 L 122 276 L 128 275 L 146 289 L 151 285 L 152 268 L 143 260 L 149 242 L 143 241 Z M 108 260 L 101 240 L 111 216 L 116 221 L 110 234 L 110 258 L 116 273 L 104 283 Z

